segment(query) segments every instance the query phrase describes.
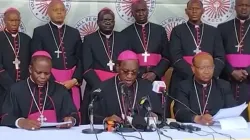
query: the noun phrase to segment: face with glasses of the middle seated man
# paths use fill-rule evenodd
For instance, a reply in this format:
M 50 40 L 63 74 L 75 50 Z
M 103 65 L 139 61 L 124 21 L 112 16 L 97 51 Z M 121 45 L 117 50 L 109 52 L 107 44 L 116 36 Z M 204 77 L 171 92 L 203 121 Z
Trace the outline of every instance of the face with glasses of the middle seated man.
M 120 80 L 125 82 L 127 86 L 131 86 L 136 80 L 138 68 L 137 60 L 125 60 L 117 65 L 116 70 L 119 73 Z

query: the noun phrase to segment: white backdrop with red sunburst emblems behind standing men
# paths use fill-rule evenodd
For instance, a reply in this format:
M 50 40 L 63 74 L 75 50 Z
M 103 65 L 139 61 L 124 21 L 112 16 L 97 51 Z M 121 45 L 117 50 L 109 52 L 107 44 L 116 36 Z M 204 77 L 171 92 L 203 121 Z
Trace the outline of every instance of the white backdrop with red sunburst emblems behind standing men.
M 97 30 L 96 16 L 100 9 L 111 8 L 116 16 L 115 30 L 121 31 L 134 19 L 131 16 L 132 0 L 63 0 L 67 8 L 66 23 L 77 28 L 81 36 Z M 146 0 L 150 21 L 165 27 L 168 36 L 172 28 L 187 20 L 185 8 L 187 0 Z M 205 13 L 203 22 L 217 26 L 234 17 L 234 0 L 202 0 Z M 49 20 L 47 8 L 50 0 L 0 0 L 0 30 L 4 28 L 3 13 L 8 7 L 21 12 L 20 31 L 32 36 L 33 29 Z

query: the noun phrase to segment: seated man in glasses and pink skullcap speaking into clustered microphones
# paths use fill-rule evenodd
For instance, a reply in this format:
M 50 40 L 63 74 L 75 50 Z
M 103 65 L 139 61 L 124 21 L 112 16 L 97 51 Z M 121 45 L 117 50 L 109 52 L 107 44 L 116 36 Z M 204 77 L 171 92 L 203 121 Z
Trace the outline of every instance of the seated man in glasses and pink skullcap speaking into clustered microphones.
M 138 79 L 139 62 L 136 53 L 125 50 L 119 54 L 116 63 L 118 74 L 100 84 L 99 99 L 94 106 L 94 123 L 108 119 L 126 122 L 125 116 L 146 117 L 147 110 L 142 106 L 142 98 L 148 97 L 152 115 L 162 114 L 161 102 L 157 93 L 152 91 L 152 83 Z M 96 93 L 96 91 L 94 91 Z

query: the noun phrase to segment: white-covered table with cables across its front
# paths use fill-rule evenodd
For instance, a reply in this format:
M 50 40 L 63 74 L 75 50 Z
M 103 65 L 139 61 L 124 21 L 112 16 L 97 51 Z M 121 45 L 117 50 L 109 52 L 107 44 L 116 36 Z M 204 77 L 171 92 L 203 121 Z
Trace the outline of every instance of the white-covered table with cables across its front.
M 212 126 L 212 129 L 207 126 L 200 126 L 203 131 L 213 132 L 214 129 L 217 132 L 230 134 L 236 140 L 249 140 L 250 139 L 250 123 L 249 128 L 245 130 L 227 130 L 222 131 L 219 126 Z M 96 128 L 101 128 L 102 126 L 95 126 Z M 89 125 L 81 125 L 78 127 L 73 127 L 71 129 L 41 129 L 37 131 L 28 131 L 22 129 L 13 129 L 8 127 L 0 127 L 0 139 L 1 140 L 96 140 L 94 134 L 83 134 L 81 130 L 84 128 L 89 128 Z M 173 140 L 213 140 L 212 135 L 208 136 L 198 136 L 194 133 L 181 132 L 173 129 L 166 129 L 164 134 L 173 138 Z M 206 132 L 197 132 L 198 134 L 207 134 Z M 138 132 L 133 133 L 123 133 L 124 135 L 132 135 L 140 137 Z M 156 132 L 143 132 L 141 133 L 144 140 L 159 140 L 158 134 Z M 230 140 L 226 136 L 219 134 L 213 134 L 216 140 Z M 99 140 L 124 140 L 120 135 L 112 132 L 103 132 L 98 134 Z M 136 138 L 125 137 L 126 140 L 138 140 Z M 164 136 L 161 136 L 161 140 L 169 140 Z

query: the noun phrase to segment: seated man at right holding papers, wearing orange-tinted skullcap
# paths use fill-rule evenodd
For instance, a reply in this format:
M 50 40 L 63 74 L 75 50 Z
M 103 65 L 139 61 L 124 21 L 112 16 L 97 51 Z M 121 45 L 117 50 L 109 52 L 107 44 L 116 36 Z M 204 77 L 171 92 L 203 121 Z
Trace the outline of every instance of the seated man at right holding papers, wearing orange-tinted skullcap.
M 177 121 L 212 125 L 212 116 L 220 109 L 236 105 L 229 82 L 213 78 L 214 67 L 209 53 L 201 52 L 194 56 L 194 76 L 176 88 L 177 100 L 182 103 L 174 104 Z

